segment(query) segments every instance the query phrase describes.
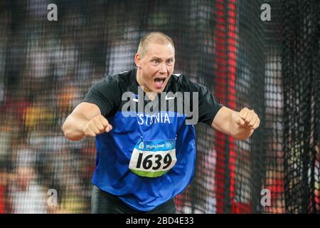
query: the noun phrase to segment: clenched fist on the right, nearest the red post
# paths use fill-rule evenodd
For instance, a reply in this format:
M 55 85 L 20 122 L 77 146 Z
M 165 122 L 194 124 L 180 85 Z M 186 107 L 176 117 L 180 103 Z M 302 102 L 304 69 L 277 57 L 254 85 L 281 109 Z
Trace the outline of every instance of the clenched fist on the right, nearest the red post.
M 232 118 L 241 128 L 255 130 L 260 125 L 260 119 L 255 111 L 248 108 L 242 108 L 239 113 L 234 112 Z

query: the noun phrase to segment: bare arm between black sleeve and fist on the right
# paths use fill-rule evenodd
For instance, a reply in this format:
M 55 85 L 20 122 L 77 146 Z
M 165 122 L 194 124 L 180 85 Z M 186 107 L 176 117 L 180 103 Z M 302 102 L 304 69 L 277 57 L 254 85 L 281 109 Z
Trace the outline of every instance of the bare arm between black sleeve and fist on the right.
M 223 106 L 215 115 L 211 126 L 213 126 L 213 128 L 215 128 L 216 130 L 231 136 L 230 123 L 231 114 L 233 112 L 234 111 L 230 108 Z

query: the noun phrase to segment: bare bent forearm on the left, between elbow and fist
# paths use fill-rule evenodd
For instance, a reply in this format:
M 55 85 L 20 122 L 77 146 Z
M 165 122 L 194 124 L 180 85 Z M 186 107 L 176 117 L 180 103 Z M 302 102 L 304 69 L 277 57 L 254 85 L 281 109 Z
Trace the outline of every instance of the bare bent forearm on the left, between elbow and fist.
M 83 129 L 89 120 L 80 114 L 69 115 L 63 124 L 63 133 L 68 140 L 78 141 L 85 137 Z

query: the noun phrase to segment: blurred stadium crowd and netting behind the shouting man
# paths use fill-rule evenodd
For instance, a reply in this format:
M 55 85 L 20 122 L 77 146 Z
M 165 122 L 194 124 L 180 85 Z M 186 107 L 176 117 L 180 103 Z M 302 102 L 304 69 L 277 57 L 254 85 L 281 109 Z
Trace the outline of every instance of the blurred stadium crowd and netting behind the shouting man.
M 196 125 L 178 212 L 319 213 L 319 12 L 319 0 L 0 1 L 0 213 L 90 213 L 94 139 L 61 126 L 93 84 L 134 68 L 149 31 L 173 38 L 176 73 L 261 119 L 242 141 Z

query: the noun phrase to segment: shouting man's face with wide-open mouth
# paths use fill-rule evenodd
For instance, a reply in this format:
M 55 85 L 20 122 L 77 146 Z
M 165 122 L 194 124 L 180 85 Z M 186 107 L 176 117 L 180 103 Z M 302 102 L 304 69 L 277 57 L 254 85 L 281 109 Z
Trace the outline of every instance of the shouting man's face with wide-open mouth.
M 146 92 L 161 93 L 174 73 L 174 48 L 171 44 L 149 43 L 144 56 L 136 54 L 137 81 Z

